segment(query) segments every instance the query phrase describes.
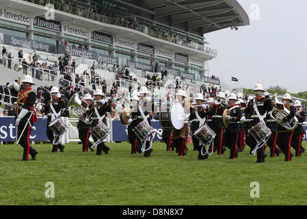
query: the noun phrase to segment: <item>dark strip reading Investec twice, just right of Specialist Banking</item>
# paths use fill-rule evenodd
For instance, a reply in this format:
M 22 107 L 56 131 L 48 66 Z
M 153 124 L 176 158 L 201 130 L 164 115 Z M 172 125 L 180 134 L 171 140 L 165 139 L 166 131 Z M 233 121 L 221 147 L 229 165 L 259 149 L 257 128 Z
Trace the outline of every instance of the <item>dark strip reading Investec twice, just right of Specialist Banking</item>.
M 88 50 L 88 49 L 80 49 L 77 47 L 65 47 L 62 45 L 61 47 L 61 53 L 65 53 L 66 51 L 70 51 L 72 56 L 77 56 L 77 57 L 86 57 L 90 60 L 96 60 L 97 62 L 103 62 L 111 65 L 118 65 L 119 60 L 118 57 L 112 57 L 108 55 L 101 55 L 99 53 L 96 53 L 96 51 Z

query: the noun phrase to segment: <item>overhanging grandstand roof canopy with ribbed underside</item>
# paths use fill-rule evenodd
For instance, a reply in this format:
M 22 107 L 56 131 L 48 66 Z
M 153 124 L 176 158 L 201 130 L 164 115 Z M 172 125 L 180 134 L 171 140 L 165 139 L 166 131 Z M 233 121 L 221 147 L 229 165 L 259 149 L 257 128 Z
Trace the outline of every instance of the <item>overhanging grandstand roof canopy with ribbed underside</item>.
M 136 15 L 198 36 L 228 27 L 250 25 L 237 0 L 107 0 Z

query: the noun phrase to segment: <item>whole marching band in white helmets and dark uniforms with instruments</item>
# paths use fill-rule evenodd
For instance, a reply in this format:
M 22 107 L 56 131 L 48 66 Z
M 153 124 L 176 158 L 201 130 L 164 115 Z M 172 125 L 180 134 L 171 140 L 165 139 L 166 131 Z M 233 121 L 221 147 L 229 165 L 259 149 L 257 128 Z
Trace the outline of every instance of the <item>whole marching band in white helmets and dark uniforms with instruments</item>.
M 21 86 L 16 82 L 11 87 L 18 91 L 16 116 L 16 142 L 23 146 L 23 161 L 36 159 L 38 151 L 29 144 L 31 128 L 36 122 L 36 92 L 32 77 L 25 75 Z M 43 119 L 47 119 L 46 135 L 53 145 L 52 152 L 59 149 L 64 152 L 61 137 L 68 126 L 60 116 L 61 109 L 66 103 L 59 89 L 53 87 L 50 98 L 46 100 Z M 187 143 L 191 132 L 193 151 L 198 151 L 198 159 L 208 159 L 209 155 L 217 152 L 224 155 L 228 148 L 230 159 L 239 157 L 245 150 L 245 144 L 250 146 L 250 154 L 256 154 L 256 162 L 265 162 L 266 146 L 269 147 L 270 157 L 284 153 L 285 161 L 290 162 L 295 149 L 295 156 L 300 157 L 305 149 L 302 147 L 304 136 L 303 123 L 306 114 L 302 110 L 300 101 L 293 101 L 290 94 L 284 94 L 282 103 L 277 94 L 271 98 L 263 90 L 260 83 L 254 86 L 254 98 L 248 102 L 243 96 L 235 93 L 218 92 L 215 98 L 205 99 L 201 93 L 193 98 L 191 103 L 185 90 L 177 90 L 175 94 L 168 92 L 165 101 L 155 103 L 145 86 L 139 91 L 131 92 L 129 104 L 120 112 L 120 120 L 127 127 L 128 142 L 131 144 L 131 154 L 144 153 L 150 157 L 152 140 L 157 133 L 150 125 L 150 116 L 157 115 L 163 129 L 162 140 L 166 144 L 166 151 L 176 149 L 178 156 L 187 155 Z M 173 98 L 174 97 L 174 98 Z M 93 99 L 94 98 L 94 99 Z M 68 106 L 73 106 L 73 114 L 79 118 L 77 129 L 82 142 L 82 151 L 96 149 L 96 155 L 109 153 L 105 145 L 105 138 L 110 130 L 105 123 L 105 114 L 111 112 L 111 106 L 105 100 L 102 90 L 79 96 L 75 94 L 69 100 Z M 159 110 L 156 110 L 159 105 Z M 90 142 L 90 136 L 94 144 Z

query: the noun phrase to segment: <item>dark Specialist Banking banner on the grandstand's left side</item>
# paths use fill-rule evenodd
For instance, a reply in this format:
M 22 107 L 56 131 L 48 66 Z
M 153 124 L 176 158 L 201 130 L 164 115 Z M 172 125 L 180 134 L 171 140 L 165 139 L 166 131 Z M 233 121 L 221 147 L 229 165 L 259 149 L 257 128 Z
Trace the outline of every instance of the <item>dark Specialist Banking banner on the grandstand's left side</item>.
M 4 44 L 8 44 L 14 47 L 22 47 L 25 49 L 44 51 L 46 53 L 55 53 L 55 44 L 40 42 L 36 40 L 29 40 L 18 36 L 10 36 L 5 34 Z

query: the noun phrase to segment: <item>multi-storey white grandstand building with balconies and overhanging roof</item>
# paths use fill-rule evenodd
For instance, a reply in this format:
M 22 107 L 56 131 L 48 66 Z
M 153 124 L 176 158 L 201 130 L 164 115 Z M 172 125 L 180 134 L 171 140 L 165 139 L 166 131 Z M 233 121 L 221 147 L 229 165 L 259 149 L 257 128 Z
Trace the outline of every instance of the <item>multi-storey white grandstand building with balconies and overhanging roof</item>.
M 205 34 L 249 25 L 235 0 L 1 0 L 0 6 L 0 44 L 12 51 L 13 62 L 20 61 L 20 49 L 27 62 L 30 53 L 51 64 L 69 56 L 70 62 L 76 61 L 75 69 L 70 68 L 71 83 L 83 74 L 85 83 L 79 85 L 90 89 L 91 74 L 86 72 L 93 62 L 108 86 L 116 81 L 118 66 L 129 68 L 137 83 L 155 73 L 161 77 L 166 69 L 161 87 L 172 87 L 174 77 L 185 79 L 189 87 L 220 86 L 219 79 L 208 77 L 207 62 L 217 57 L 217 50 L 210 48 Z M 59 69 L 42 70 L 36 79 L 66 83 Z M 128 88 L 128 82 L 120 86 Z

